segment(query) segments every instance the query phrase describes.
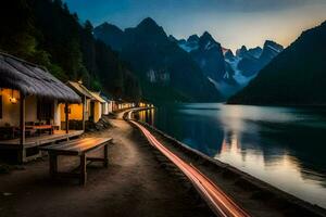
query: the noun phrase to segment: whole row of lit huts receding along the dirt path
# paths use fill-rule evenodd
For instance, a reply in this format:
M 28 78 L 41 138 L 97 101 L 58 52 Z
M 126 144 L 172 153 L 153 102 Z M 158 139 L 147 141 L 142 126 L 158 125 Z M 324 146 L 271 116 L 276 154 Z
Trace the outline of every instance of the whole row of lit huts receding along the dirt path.
M 63 84 L 41 66 L 0 53 L 0 150 L 17 149 L 21 161 L 27 148 L 78 136 L 86 122 L 98 123 L 103 115 L 135 105 L 78 81 Z M 79 124 L 72 130 L 70 122 Z M 36 131 L 49 135 L 30 137 Z

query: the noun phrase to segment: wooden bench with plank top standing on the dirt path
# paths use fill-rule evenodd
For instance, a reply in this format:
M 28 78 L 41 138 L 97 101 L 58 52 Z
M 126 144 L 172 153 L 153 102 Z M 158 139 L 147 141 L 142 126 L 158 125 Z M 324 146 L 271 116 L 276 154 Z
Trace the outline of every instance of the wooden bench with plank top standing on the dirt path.
M 71 140 L 59 144 L 51 144 L 47 146 L 40 146 L 41 151 L 47 151 L 50 156 L 50 176 L 52 178 L 70 177 L 78 178 L 80 184 L 86 184 L 87 173 L 86 163 L 103 162 L 104 167 L 109 165 L 108 146 L 112 142 L 111 138 L 84 138 L 77 140 Z M 87 157 L 86 154 L 96 151 L 100 148 L 104 148 L 104 157 Z M 79 173 L 59 173 L 58 171 L 58 156 L 79 156 L 80 168 Z

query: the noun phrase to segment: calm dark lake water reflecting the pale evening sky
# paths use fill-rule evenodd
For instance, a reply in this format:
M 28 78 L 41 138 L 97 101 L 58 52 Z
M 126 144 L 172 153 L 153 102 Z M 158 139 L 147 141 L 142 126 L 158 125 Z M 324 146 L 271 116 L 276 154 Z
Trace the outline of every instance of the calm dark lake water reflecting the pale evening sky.
M 200 152 L 326 208 L 326 108 L 177 104 L 138 118 Z

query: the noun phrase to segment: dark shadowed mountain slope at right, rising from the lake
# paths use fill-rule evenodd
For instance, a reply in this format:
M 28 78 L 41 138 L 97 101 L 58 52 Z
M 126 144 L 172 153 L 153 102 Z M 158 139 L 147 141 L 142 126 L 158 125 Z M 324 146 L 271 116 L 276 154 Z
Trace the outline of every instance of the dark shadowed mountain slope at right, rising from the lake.
M 228 103 L 326 104 L 326 22 L 305 30 Z M 278 52 L 275 44 L 264 56 Z M 272 48 L 271 48 L 272 47 Z M 263 56 L 263 53 L 262 53 Z

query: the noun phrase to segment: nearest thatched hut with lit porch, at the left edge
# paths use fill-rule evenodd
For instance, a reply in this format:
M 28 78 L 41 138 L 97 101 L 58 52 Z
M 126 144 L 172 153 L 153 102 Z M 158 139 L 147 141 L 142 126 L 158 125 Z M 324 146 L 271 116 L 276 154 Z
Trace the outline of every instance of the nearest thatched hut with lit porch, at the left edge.
M 27 148 L 71 136 L 68 127 L 64 135 L 54 130 L 62 128 L 61 116 L 68 123 L 68 104 L 80 103 L 80 98 L 45 67 L 0 53 L 0 149 L 17 151 L 22 162 L 27 157 Z M 60 110 L 61 104 L 65 114 Z M 26 138 L 46 130 L 49 135 L 41 140 Z

